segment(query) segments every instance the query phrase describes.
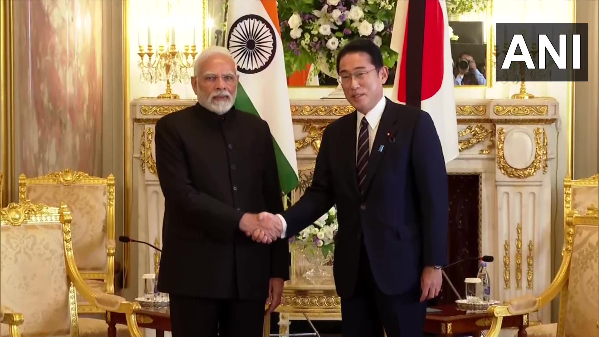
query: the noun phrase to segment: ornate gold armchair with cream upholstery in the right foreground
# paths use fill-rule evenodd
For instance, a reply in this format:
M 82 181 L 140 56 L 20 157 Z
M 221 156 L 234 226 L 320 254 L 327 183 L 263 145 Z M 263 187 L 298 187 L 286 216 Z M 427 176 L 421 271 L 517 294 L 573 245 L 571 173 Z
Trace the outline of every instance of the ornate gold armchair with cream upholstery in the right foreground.
M 565 221 L 562 262 L 553 282 L 541 296 L 518 297 L 489 308 L 494 316 L 488 337 L 497 337 L 503 317 L 538 311 L 558 294 L 558 323 L 527 328 L 528 337 L 599 337 L 599 210 L 584 215 L 570 210 Z

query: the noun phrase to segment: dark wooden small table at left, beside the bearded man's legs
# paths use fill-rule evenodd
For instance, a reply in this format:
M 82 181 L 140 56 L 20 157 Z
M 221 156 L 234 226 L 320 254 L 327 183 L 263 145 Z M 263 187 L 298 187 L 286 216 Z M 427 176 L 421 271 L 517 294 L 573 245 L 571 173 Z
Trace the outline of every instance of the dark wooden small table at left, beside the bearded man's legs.
M 165 331 L 171 330 L 171 311 L 169 308 L 149 309 L 141 308 L 135 313 L 137 325 L 156 330 L 156 337 L 164 337 Z M 116 324 L 127 325 L 125 314 L 120 312 L 106 312 L 108 323 L 108 337 L 116 337 Z

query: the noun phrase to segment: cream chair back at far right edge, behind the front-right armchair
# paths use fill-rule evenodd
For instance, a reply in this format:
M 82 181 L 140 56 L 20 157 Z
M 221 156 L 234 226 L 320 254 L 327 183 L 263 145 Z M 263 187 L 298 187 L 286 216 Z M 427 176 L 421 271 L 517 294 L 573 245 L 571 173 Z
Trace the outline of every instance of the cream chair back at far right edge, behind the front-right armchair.
M 589 207 L 599 207 L 599 174 L 584 179 L 564 179 L 564 215 L 577 210 L 584 215 Z

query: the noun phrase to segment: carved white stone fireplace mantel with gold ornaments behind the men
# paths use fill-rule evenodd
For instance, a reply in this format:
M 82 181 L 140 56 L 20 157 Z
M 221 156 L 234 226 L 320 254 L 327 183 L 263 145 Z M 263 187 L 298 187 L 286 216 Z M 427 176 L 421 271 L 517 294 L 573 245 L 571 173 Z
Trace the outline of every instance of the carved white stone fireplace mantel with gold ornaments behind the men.
M 155 123 L 195 103 L 157 99 L 131 103 L 133 201 L 137 207 L 131 234 L 140 240 L 162 245 L 164 197 L 153 157 Z M 559 116 L 558 103 L 553 98 L 534 98 L 467 100 L 457 105 L 460 152 L 447 164 L 447 171 L 480 174 L 479 247 L 481 254 L 495 257 L 489 266 L 492 297 L 507 300 L 529 293 L 538 296 L 551 282 L 547 268 L 551 263 L 550 188 L 556 177 L 549 163 L 555 159 L 553 124 Z M 323 127 L 351 113 L 353 107 L 346 100 L 293 100 L 291 111 L 301 169 L 313 164 Z M 300 171 L 304 180 L 310 179 L 308 171 Z M 141 275 L 152 272 L 155 257 L 144 246 L 137 249 L 139 267 L 132 272 L 137 272 L 134 277 L 141 291 Z M 531 317 L 537 319 L 548 323 L 549 309 L 541 310 L 538 318 Z

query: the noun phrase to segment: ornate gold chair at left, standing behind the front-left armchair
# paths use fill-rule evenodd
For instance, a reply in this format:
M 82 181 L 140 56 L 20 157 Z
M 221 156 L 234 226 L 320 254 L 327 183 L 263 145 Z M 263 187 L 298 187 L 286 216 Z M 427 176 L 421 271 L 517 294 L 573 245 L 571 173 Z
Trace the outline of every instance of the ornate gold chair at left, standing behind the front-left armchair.
M 94 177 L 65 169 L 46 176 L 19 176 L 19 201 L 58 205 L 72 210 L 75 262 L 87 284 L 114 294 L 114 176 Z M 78 311 L 102 313 L 77 294 Z

